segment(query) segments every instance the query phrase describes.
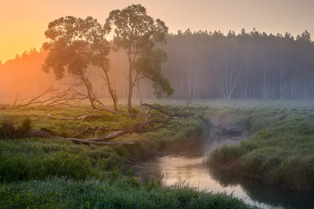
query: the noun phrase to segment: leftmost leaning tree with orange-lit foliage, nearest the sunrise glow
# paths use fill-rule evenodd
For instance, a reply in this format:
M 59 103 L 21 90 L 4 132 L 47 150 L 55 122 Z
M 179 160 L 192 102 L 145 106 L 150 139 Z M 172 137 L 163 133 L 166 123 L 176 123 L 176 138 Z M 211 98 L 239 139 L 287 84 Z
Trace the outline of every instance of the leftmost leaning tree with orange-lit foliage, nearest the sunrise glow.
M 84 20 L 73 16 L 62 17 L 50 22 L 45 36 L 50 41 L 43 44 L 43 48 L 49 51 L 42 70 L 49 73 L 52 69 L 56 80 L 61 80 L 65 74 L 72 77 L 76 87 L 84 86 L 87 91 L 93 109 L 96 109 L 92 97 L 92 85 L 85 75 L 90 64 L 92 51 L 88 41 L 83 39 Z

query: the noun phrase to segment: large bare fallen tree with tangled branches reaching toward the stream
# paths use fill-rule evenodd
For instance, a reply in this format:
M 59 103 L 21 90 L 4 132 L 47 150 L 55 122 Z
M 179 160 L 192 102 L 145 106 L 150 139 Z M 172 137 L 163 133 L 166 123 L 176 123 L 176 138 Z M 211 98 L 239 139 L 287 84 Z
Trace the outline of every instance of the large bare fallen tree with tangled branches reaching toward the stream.
M 149 109 L 147 110 L 145 117 L 143 118 L 143 121 L 134 123 L 130 125 L 127 128 L 110 128 L 110 127 L 85 127 L 81 128 L 79 130 L 74 130 L 72 133 L 75 134 L 71 138 L 66 138 L 63 136 L 59 136 L 56 134 L 53 134 L 51 131 L 47 130 L 35 130 L 30 129 L 29 135 L 32 137 L 42 137 L 42 138 L 58 138 L 58 139 L 64 139 L 64 140 L 71 140 L 73 142 L 77 143 L 84 143 L 84 144 L 134 144 L 134 142 L 108 142 L 109 140 L 118 138 L 122 135 L 128 134 L 128 133 L 137 133 L 141 136 L 150 138 L 148 136 L 143 135 L 143 133 L 156 131 L 157 129 L 165 128 L 171 131 L 176 131 L 177 127 L 185 127 L 184 123 L 190 120 L 190 118 L 193 118 L 194 116 L 184 115 L 184 113 L 188 112 L 190 113 L 192 110 L 195 109 L 195 107 L 189 107 L 189 105 L 192 103 L 192 100 L 187 101 L 187 106 L 180 112 L 175 112 L 174 109 L 169 109 L 169 106 L 165 107 L 156 107 L 154 105 L 148 105 L 148 104 L 142 104 L 143 106 L 148 106 Z M 178 108 L 178 107 L 176 107 Z M 149 112 L 154 109 L 157 110 L 154 113 L 150 114 Z M 46 113 L 47 114 L 47 113 Z M 47 114 L 47 118 L 54 118 L 54 119 L 74 119 L 78 120 L 81 119 L 81 117 L 76 118 L 56 118 L 51 117 L 52 114 Z M 46 119 L 47 119 L 46 118 Z M 94 138 L 85 138 L 85 139 L 79 139 L 74 138 L 77 136 L 80 136 L 82 132 L 91 129 L 96 130 L 95 137 Z M 97 132 L 99 130 L 106 130 L 106 131 L 114 131 L 106 136 L 97 137 Z M 150 138 L 153 139 L 153 138 Z

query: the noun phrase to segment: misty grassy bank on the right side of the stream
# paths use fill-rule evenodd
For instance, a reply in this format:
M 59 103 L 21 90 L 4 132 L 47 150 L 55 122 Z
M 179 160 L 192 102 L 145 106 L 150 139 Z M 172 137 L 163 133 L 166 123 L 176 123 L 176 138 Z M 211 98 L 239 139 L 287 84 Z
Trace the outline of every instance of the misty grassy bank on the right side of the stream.
M 210 101 L 209 101 L 210 102 Z M 314 191 L 313 101 L 212 101 L 205 114 L 255 134 L 204 160 L 292 191 Z

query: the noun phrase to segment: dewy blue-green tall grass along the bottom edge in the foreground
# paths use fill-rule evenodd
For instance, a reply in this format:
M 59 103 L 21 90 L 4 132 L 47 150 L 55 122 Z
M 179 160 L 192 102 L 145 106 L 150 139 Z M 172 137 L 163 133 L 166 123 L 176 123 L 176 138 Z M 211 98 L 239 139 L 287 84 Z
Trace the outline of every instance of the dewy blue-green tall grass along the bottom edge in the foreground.
M 0 185 L 0 208 L 256 208 L 225 192 L 140 183 L 130 178 L 64 177 Z

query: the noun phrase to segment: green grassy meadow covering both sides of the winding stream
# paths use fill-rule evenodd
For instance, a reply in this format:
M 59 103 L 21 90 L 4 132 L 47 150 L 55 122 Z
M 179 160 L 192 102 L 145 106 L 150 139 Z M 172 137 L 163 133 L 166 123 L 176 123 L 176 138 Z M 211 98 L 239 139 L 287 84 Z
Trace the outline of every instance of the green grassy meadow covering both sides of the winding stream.
M 127 105 L 120 103 L 126 111 Z M 158 103 L 181 108 L 186 105 L 183 100 Z M 34 129 L 46 128 L 70 137 L 73 130 L 86 126 L 126 128 L 142 118 L 102 111 L 95 113 L 102 114 L 100 118 L 56 120 L 47 118 L 45 112 L 57 118 L 79 117 L 88 113 L 89 106 L 8 110 L 5 103 L 0 105 L 0 208 L 255 208 L 223 191 L 182 185 L 160 187 L 160 179 L 139 182 L 131 177 L 132 169 L 122 175 L 123 163 L 149 155 L 148 150 L 176 151 L 205 140 L 212 122 L 242 126 L 252 132 L 252 137 L 236 146 L 215 149 L 204 164 L 289 190 L 313 191 L 313 101 L 200 100 L 192 105 L 197 105 L 192 112 L 195 117 L 175 131 L 160 129 L 146 134 L 149 138 L 132 133 L 111 140 L 135 142 L 130 145 L 27 138 L 23 131 L 22 135 L 8 137 L 3 127 L 10 123 L 16 130 L 23 130 L 31 120 Z M 97 136 L 109 133 L 98 131 Z M 94 130 L 79 136 L 92 137 Z

